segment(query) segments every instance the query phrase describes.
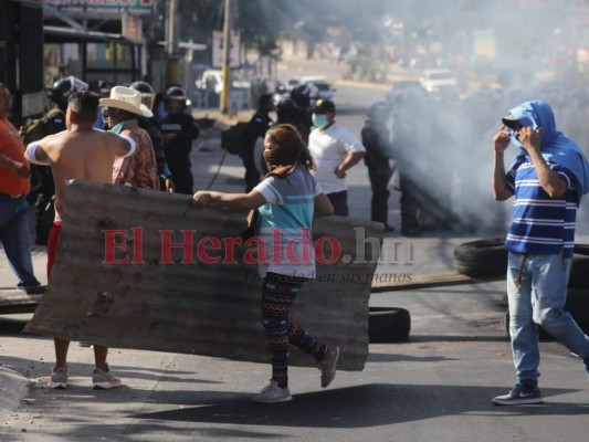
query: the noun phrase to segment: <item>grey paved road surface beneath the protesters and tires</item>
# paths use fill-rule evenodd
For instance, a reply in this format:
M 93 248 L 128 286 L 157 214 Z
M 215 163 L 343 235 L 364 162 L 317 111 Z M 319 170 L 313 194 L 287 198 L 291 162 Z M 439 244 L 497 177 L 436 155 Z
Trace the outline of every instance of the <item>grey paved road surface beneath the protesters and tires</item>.
M 343 123 L 357 128 L 374 97 L 353 87 L 339 86 L 338 98 Z M 355 97 L 355 105 L 346 97 Z M 209 185 L 220 158 L 214 134 L 203 134 L 193 154 L 198 188 Z M 228 157 L 213 188 L 238 191 L 241 175 L 239 159 Z M 350 172 L 350 185 L 353 215 L 365 218 L 370 192 L 364 168 Z M 393 196 L 393 217 L 396 211 Z M 410 240 L 409 263 L 383 262 L 377 271 L 421 275 L 451 270 L 454 246 L 471 239 L 425 233 Z M 579 240 L 589 242 L 587 231 Z M 385 246 L 395 241 L 388 236 Z M 42 280 L 44 260 L 40 250 L 34 263 Z M 12 284 L 11 278 L 2 261 L 0 285 Z M 125 387 L 93 391 L 92 350 L 75 344 L 71 388 L 49 390 L 43 387 L 54 360 L 52 341 L 20 332 L 30 315 L 0 318 L 0 369 L 21 376 L 20 382 L 10 381 L 15 389 L 10 408 L 0 409 L 0 442 L 587 440 L 589 382 L 579 361 L 555 343 L 543 344 L 545 404 L 491 406 L 490 399 L 514 381 L 502 324 L 502 282 L 381 293 L 370 303 L 408 308 L 409 341 L 371 345 L 365 370 L 338 372 L 326 390 L 319 388 L 317 370 L 293 368 L 294 401 L 267 407 L 250 403 L 267 382 L 267 366 L 193 355 L 114 349 L 109 361 Z M 0 373 L 0 379 L 7 377 Z

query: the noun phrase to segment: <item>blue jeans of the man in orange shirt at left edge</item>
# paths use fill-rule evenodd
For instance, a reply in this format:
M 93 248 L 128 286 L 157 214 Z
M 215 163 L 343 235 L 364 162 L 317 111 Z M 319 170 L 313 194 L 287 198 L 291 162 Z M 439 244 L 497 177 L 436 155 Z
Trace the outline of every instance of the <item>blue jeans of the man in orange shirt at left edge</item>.
M 0 193 L 0 242 L 10 266 L 19 277 L 18 287 L 41 285 L 34 276 L 31 257 L 27 196 L 10 198 Z

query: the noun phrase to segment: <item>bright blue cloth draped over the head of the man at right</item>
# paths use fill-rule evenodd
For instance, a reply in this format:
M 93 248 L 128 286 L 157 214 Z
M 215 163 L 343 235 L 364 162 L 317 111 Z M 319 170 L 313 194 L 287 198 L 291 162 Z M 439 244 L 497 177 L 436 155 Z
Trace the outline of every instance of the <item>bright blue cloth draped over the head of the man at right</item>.
M 555 115 L 547 103 L 532 101 L 520 104 L 511 109 L 507 115 L 513 115 L 517 122 L 525 127 L 537 129 L 541 127 L 540 152 L 547 162 L 553 162 L 566 167 L 577 179 L 579 201 L 581 197 L 589 193 L 589 162 L 579 146 L 571 139 L 565 137 L 561 131 L 556 130 Z M 515 138 L 515 131 L 508 129 L 512 135 L 512 143 L 519 147 L 515 156 L 512 168 L 525 161 L 528 156 L 522 144 Z

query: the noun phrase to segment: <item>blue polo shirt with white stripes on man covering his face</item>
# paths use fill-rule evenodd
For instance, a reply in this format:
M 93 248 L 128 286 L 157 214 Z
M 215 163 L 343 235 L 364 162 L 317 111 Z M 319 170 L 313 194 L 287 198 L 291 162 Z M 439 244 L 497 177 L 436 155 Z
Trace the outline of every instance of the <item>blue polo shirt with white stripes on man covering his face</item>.
M 565 257 L 571 257 L 579 207 L 575 176 L 562 166 L 548 166 L 567 183 L 565 194 L 558 199 L 550 198 L 541 188 L 529 158 L 507 172 L 507 186 L 515 201 L 505 248 L 532 254 L 564 252 Z

